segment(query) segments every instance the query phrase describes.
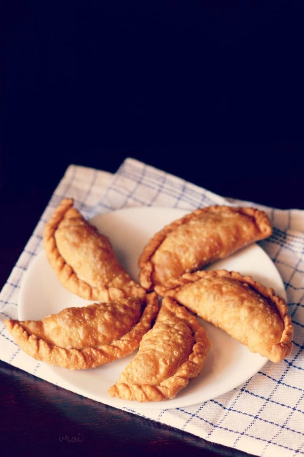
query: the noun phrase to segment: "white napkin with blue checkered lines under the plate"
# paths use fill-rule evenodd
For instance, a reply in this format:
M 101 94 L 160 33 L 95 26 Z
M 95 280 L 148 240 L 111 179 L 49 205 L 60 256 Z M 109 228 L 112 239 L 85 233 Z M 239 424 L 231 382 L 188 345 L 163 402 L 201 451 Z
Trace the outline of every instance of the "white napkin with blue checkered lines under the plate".
M 42 249 L 45 222 L 63 197 L 89 218 L 135 206 L 193 210 L 212 204 L 255 206 L 268 213 L 273 235 L 260 246 L 275 263 L 286 288 L 294 324 L 294 347 L 288 360 L 268 362 L 252 378 L 229 393 L 189 407 L 140 408 L 129 412 L 184 430 L 215 443 L 261 456 L 304 454 L 304 211 L 278 210 L 251 202 L 225 199 L 132 158 L 117 173 L 71 165 L 52 195 L 0 295 L 0 357 L 42 379 L 55 381 L 47 364 L 38 363 L 12 342 L 3 320 L 17 318 L 20 284 L 33 257 Z M 133 402 L 132 402 L 133 403 Z

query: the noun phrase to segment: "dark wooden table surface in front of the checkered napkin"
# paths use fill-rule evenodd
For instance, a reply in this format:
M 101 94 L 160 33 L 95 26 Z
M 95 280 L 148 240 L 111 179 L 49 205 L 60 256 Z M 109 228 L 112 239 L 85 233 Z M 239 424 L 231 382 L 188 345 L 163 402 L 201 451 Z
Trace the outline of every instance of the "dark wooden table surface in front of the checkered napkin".
M 0 363 L 1 439 L 15 455 L 246 454 L 111 408 Z

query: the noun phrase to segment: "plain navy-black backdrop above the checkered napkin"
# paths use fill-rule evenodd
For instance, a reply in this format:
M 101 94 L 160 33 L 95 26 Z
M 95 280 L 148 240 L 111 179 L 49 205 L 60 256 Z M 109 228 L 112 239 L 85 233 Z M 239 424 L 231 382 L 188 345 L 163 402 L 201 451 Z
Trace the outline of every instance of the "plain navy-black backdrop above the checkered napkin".
M 71 163 L 132 156 L 303 207 L 303 2 L 1 6 L 1 188 L 49 196 Z

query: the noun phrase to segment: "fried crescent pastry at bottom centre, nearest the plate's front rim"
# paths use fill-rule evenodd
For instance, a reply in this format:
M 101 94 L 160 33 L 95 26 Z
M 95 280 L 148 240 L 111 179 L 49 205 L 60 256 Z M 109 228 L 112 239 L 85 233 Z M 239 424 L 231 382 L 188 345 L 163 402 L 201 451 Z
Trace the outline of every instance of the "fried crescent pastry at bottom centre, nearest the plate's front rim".
M 153 328 L 108 394 L 138 402 L 172 399 L 202 371 L 209 349 L 197 318 L 166 297 Z

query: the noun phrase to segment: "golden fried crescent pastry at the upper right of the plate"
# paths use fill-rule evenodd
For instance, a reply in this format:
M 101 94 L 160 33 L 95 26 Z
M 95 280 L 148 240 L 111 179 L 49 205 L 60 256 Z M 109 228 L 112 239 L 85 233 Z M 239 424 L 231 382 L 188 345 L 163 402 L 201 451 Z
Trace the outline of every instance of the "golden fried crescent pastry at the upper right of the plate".
M 170 286 L 172 279 L 271 234 L 267 215 L 257 209 L 217 205 L 197 209 L 151 238 L 138 260 L 139 282 L 146 290 Z

